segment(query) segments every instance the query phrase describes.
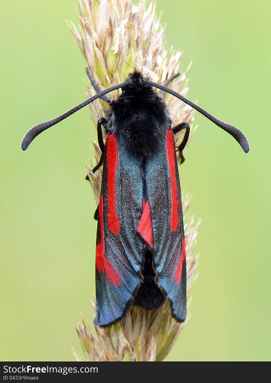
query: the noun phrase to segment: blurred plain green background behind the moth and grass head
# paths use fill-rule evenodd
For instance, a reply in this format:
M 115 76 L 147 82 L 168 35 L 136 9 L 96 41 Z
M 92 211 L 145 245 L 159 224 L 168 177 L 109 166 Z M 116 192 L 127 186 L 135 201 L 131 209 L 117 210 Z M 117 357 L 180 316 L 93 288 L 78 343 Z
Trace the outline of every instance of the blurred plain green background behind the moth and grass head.
M 95 202 L 84 180 L 95 136 L 87 108 L 42 134 L 34 124 L 85 97 L 85 61 L 65 24 L 77 0 L 1 9 L 0 359 L 74 360 L 92 323 Z M 167 46 L 189 62 L 188 97 L 247 135 L 244 154 L 196 113 L 181 183 L 203 219 L 191 318 L 167 360 L 270 359 L 270 16 L 268 1 L 157 1 Z M 92 324 L 91 324 L 92 326 Z

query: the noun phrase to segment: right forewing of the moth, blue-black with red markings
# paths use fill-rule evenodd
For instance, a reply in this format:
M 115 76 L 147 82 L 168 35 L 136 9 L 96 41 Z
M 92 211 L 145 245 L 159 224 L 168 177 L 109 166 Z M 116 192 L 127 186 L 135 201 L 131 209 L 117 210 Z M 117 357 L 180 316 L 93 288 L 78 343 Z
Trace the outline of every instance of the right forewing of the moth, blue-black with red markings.
M 186 318 L 186 257 L 181 186 L 173 132 L 165 151 L 146 163 L 147 193 L 153 228 L 153 261 L 157 284 L 170 302 L 177 322 Z

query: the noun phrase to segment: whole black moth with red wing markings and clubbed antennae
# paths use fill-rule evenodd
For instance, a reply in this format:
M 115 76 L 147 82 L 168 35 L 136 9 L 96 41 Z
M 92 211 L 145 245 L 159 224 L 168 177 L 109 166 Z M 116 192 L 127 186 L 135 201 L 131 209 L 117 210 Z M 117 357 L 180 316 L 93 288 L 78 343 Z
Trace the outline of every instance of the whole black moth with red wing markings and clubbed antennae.
M 96 237 L 96 326 L 107 327 L 123 318 L 131 305 L 147 310 L 170 302 L 177 322 L 186 318 L 186 254 L 181 186 L 176 150 L 189 138 L 189 123 L 172 128 L 163 92 L 179 98 L 215 123 L 250 150 L 245 135 L 233 125 L 140 72 L 103 91 L 89 69 L 88 77 L 97 94 L 63 115 L 31 128 L 23 138 L 26 150 L 41 132 L 101 98 L 109 103 L 108 118 L 97 125 L 103 165 L 101 194 L 95 218 Z M 121 88 L 111 100 L 107 93 Z M 160 93 L 154 90 L 160 89 Z M 102 128 L 103 127 L 103 128 Z M 175 148 L 174 135 L 185 129 Z M 105 143 L 103 141 L 103 131 Z

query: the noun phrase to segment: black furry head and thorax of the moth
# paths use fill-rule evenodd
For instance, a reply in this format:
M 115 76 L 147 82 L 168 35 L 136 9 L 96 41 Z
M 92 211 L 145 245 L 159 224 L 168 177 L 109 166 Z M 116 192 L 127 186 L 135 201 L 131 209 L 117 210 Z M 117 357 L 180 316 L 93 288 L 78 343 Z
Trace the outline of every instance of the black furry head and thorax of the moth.
M 111 103 L 108 130 L 124 141 L 137 158 L 147 158 L 163 148 L 171 128 L 167 105 L 140 72 L 130 74 L 118 98 Z

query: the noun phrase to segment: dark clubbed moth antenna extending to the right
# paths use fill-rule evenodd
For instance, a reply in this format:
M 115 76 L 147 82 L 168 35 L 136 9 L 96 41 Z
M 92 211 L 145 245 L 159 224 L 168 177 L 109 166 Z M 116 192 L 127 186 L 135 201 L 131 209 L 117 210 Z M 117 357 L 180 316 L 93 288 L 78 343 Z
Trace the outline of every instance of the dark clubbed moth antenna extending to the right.
M 171 95 L 179 98 L 179 100 L 185 102 L 187 105 L 192 106 L 195 110 L 197 110 L 199 113 L 207 117 L 210 121 L 212 121 L 215 125 L 219 126 L 219 128 L 225 130 L 227 133 L 229 133 L 242 147 L 243 151 L 245 153 L 248 153 L 250 150 L 249 143 L 247 140 L 247 137 L 245 134 L 238 129 L 236 126 L 230 125 L 225 123 L 224 121 L 219 120 L 218 118 L 212 116 L 210 113 L 208 113 L 206 110 L 202 109 L 200 106 L 194 104 L 192 101 L 188 100 L 184 96 L 182 96 L 180 93 L 175 92 L 174 90 L 167 88 L 165 85 L 157 84 L 156 82 L 149 82 L 150 85 L 152 85 L 155 88 L 161 89 L 167 93 L 170 93 Z

